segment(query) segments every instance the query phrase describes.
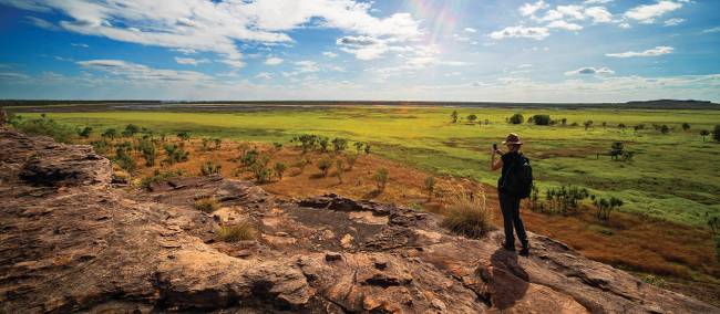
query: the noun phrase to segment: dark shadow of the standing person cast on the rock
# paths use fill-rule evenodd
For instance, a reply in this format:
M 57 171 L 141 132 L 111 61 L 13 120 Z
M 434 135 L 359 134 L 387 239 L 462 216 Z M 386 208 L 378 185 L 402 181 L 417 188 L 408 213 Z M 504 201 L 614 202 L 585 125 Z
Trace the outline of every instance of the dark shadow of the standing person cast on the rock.
M 517 263 L 517 253 L 503 248 L 493 253 L 490 262 L 492 278 L 488 285 L 492 304 L 501 311 L 510 308 L 525 296 L 529 276 Z

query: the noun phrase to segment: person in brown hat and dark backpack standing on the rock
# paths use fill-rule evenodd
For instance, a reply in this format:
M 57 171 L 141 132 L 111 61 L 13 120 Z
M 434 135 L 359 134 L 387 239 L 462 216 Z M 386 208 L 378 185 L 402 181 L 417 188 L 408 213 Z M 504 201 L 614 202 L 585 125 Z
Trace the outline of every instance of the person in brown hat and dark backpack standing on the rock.
M 517 232 L 517 238 L 523 244 L 520 251 L 521 255 L 529 254 L 529 243 L 523 219 L 520 217 L 520 201 L 529 196 L 533 185 L 533 170 L 529 166 L 529 159 L 520 151 L 523 142 L 515 133 L 507 135 L 503 142 L 507 146 L 507 153 L 503 154 L 497 149 L 497 144 L 493 144 L 490 169 L 497 170 L 502 168 L 500 179 L 497 180 L 497 196 L 500 199 L 500 209 L 503 212 L 503 224 L 505 229 L 505 243 L 503 248 L 508 251 L 515 251 L 515 236 L 513 229 Z M 501 155 L 496 159 L 495 155 Z

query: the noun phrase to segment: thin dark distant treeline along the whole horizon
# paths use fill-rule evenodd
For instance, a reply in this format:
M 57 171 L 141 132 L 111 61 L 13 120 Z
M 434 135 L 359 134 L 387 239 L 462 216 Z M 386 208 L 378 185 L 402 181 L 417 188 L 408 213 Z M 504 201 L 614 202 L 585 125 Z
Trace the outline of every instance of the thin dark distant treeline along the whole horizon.
M 377 101 L 30 101 L 6 100 L 0 101 L 0 106 L 38 107 L 49 105 L 92 105 L 92 106 L 127 106 L 133 105 L 172 105 L 172 104 L 226 104 L 248 106 L 449 106 L 449 107 L 493 107 L 493 108 L 637 108 L 637 109 L 720 109 L 720 104 L 707 101 L 638 101 L 627 103 L 496 103 L 496 102 L 377 102 Z M 116 109 L 116 108 L 115 108 Z

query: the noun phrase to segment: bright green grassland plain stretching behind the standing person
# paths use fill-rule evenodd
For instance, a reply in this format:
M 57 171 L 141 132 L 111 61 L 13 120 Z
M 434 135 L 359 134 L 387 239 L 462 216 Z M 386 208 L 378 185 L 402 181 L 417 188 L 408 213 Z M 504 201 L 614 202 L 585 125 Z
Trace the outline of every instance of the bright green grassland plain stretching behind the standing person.
M 278 107 L 228 113 L 93 112 L 50 113 L 61 123 L 92 126 L 96 130 L 128 123 L 156 133 L 187 130 L 193 136 L 241 140 L 288 142 L 296 135 L 317 134 L 368 142 L 376 154 L 442 175 L 469 177 L 495 185 L 487 168 L 492 143 L 510 132 L 526 142 L 523 150 L 533 161 L 535 178 L 546 187 L 573 184 L 596 195 L 625 200 L 621 210 L 689 226 L 706 223 L 706 213 L 720 213 L 720 144 L 703 143 L 700 129 L 720 124 L 720 111 L 683 109 L 511 109 L 456 108 L 461 117 L 475 114 L 490 125 L 453 124 L 451 107 Z M 49 111 L 50 112 L 50 111 Z M 522 113 L 567 118 L 567 126 L 510 125 L 505 118 Z M 39 114 L 22 114 L 37 116 Z M 594 126 L 585 130 L 583 122 Z M 607 127 L 601 123 L 606 122 Z M 570 126 L 578 123 L 579 126 Z M 625 130 L 617 127 L 627 125 Z M 689 123 L 683 132 L 680 125 Z M 634 125 L 646 129 L 635 132 Z M 673 128 L 667 135 L 651 124 Z M 613 161 L 597 153 L 613 142 L 636 151 L 632 161 Z

